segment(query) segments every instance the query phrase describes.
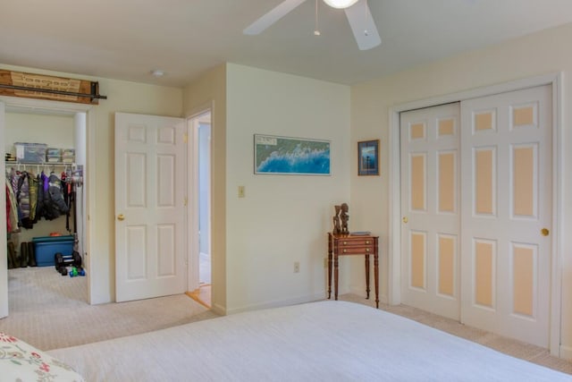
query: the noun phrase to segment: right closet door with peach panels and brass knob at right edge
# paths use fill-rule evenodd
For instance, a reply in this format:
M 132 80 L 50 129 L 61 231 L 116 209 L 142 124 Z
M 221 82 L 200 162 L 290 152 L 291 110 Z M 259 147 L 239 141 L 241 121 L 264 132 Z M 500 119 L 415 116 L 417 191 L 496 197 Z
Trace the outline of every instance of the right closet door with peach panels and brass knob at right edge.
M 462 322 L 548 347 L 551 87 L 461 104 Z

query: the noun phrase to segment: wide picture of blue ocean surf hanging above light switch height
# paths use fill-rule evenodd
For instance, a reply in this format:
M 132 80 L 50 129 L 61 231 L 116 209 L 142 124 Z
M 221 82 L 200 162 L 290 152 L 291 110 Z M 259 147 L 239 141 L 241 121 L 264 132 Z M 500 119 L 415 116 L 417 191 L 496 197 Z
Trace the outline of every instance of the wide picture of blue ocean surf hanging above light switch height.
M 330 141 L 254 135 L 255 174 L 330 174 Z

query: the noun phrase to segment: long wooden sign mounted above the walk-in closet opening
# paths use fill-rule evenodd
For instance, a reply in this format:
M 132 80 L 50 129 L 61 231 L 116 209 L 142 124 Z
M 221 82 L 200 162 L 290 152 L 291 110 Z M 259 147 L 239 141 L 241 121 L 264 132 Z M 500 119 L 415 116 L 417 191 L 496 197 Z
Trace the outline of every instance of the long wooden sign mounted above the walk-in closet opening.
M 0 69 L 0 96 L 98 105 L 99 82 Z

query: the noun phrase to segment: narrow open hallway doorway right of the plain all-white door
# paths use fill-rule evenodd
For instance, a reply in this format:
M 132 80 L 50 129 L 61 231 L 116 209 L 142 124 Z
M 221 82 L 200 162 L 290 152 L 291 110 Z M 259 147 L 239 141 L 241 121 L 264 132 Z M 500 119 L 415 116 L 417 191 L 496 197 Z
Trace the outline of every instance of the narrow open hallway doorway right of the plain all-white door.
M 212 254 L 211 254 L 211 112 L 206 110 L 189 119 L 189 177 L 192 216 L 189 243 L 189 291 L 191 297 L 211 307 Z M 192 240 L 192 239 L 191 239 Z

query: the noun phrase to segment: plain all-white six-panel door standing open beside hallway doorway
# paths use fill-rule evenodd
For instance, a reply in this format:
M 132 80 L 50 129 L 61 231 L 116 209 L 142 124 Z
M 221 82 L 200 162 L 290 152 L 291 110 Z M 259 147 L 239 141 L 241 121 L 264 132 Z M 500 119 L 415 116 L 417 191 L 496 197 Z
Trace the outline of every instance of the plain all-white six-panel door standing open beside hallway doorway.
M 186 143 L 181 118 L 115 114 L 115 298 L 186 287 Z

